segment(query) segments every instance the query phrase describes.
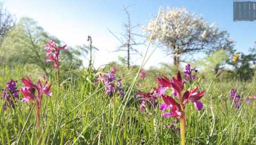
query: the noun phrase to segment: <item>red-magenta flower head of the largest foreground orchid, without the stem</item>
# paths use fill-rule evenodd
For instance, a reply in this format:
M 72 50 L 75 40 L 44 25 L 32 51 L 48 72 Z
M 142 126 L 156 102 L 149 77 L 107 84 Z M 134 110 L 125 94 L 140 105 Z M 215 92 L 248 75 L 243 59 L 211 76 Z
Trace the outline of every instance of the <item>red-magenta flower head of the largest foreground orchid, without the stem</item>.
M 203 103 L 199 100 L 204 96 L 205 91 L 197 91 L 199 88 L 196 87 L 194 90 L 188 91 L 186 90 L 183 95 L 183 86 L 184 81 L 181 79 L 180 72 L 177 73 L 176 77 L 172 79 L 168 79 L 163 75 L 163 78 L 157 78 L 157 81 L 161 86 L 159 88 L 158 95 L 162 96 L 164 104 L 160 106 L 161 110 L 170 109 L 170 112 L 167 112 L 163 115 L 163 117 L 180 117 L 184 114 L 184 110 L 188 101 L 194 103 L 197 110 L 201 110 L 203 108 Z M 177 98 L 179 103 L 175 101 L 171 96 L 164 95 L 164 92 L 168 89 L 172 88 L 174 92 L 177 93 Z

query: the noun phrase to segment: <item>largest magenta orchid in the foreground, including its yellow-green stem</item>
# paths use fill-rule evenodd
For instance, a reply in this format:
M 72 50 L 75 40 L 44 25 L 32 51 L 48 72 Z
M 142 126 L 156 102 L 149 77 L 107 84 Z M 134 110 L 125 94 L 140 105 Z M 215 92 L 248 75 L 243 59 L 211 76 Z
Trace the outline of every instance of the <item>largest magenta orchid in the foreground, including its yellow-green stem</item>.
M 187 74 L 185 76 L 188 76 L 187 78 L 191 84 L 191 80 L 193 80 L 195 76 L 191 76 L 191 73 L 188 71 L 189 69 L 190 68 L 186 66 Z M 198 91 L 198 87 L 193 90 L 185 90 L 184 84 L 186 81 L 182 80 L 180 72 L 177 73 L 177 76 L 172 77 L 172 79 L 169 79 L 163 75 L 162 78 L 157 78 L 157 82 L 159 84 L 158 95 L 162 96 L 164 101 L 164 103 L 160 105 L 160 109 L 163 111 L 167 109 L 170 110 L 169 112 L 164 113 L 163 117 L 179 118 L 181 144 L 184 145 L 186 131 L 186 104 L 191 101 L 197 110 L 201 110 L 203 108 L 203 103 L 199 100 L 205 95 L 205 91 Z M 172 89 L 172 95 L 174 97 L 164 94 L 169 88 Z

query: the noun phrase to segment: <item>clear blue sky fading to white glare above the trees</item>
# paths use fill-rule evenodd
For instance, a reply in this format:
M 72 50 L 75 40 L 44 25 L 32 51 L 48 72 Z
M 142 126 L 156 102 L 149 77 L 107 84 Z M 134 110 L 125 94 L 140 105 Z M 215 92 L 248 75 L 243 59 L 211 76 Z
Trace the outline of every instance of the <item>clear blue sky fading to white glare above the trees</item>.
M 1 0 L 0 0 L 1 1 Z M 233 22 L 233 0 L 102 0 L 102 1 L 68 1 L 68 0 L 6 0 L 4 6 L 17 19 L 29 16 L 35 19 L 51 35 L 58 37 L 70 46 L 86 44 L 91 35 L 93 44 L 100 49 L 95 54 L 95 65 L 100 66 L 110 61 L 117 61 L 122 53 L 113 53 L 119 45 L 118 41 L 108 32 L 122 32 L 122 22 L 126 15 L 122 6 L 132 5 L 129 9 L 133 24 L 147 25 L 148 20 L 156 15 L 159 6 L 187 7 L 188 11 L 203 16 L 209 23 L 215 22 L 221 30 L 227 30 L 236 41 L 235 49 L 247 53 L 256 41 L 255 22 Z M 145 52 L 146 47 L 140 47 Z M 139 56 L 132 56 L 133 64 L 140 64 Z M 147 63 L 157 66 L 158 63 L 172 63 L 171 56 L 157 50 Z

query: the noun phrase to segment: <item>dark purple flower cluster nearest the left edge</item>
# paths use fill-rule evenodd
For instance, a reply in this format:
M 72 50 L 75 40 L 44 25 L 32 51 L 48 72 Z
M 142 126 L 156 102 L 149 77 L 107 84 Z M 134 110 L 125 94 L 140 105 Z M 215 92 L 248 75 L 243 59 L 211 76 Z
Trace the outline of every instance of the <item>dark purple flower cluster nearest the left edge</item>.
M 13 109 L 15 108 L 14 98 L 19 98 L 19 90 L 17 90 L 16 83 L 17 81 L 11 79 L 6 83 L 6 87 L 3 89 L 2 100 L 6 99 L 3 106 L 4 110 L 6 110 L 7 106 Z

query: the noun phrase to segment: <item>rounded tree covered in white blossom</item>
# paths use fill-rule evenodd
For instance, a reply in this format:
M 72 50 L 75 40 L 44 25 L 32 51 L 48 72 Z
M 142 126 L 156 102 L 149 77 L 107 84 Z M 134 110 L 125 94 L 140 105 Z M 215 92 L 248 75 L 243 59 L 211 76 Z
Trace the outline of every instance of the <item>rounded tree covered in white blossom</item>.
M 143 27 L 146 36 L 154 29 L 154 20 Z M 227 31 L 220 31 L 215 23 L 208 24 L 203 18 L 189 13 L 186 8 L 169 8 L 162 11 L 153 40 L 164 48 L 166 55 L 173 55 L 174 64 L 179 66 L 180 56 L 195 52 L 215 52 L 219 46 L 222 49 L 231 48 L 233 41 Z

